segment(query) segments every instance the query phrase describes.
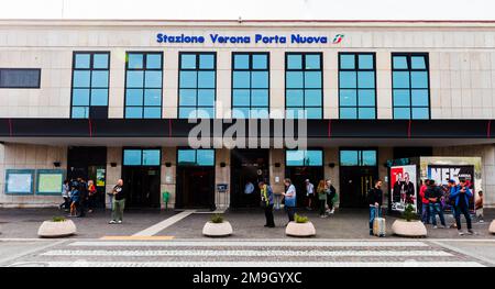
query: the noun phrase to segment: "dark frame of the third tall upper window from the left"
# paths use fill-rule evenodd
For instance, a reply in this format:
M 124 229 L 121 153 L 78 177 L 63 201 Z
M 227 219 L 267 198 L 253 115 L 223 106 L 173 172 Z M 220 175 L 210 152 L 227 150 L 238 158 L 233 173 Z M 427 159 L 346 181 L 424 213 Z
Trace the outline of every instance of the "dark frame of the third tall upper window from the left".
M 196 68 L 183 68 L 183 55 L 195 55 L 196 56 Z M 199 58 L 200 55 L 213 55 L 213 68 L 207 68 L 207 69 L 201 69 L 199 67 Z M 218 57 L 217 57 L 217 52 L 210 52 L 210 51 L 206 51 L 206 52 L 179 52 L 178 53 L 178 70 L 177 70 L 177 119 L 183 119 L 180 118 L 180 109 L 182 108 L 194 108 L 196 110 L 196 115 L 198 113 L 198 110 L 201 108 L 212 108 L 213 109 L 213 115 L 211 115 L 211 119 L 217 119 L 217 88 L 218 88 L 218 75 L 217 75 L 217 62 L 218 62 Z M 196 87 L 195 88 L 186 88 L 186 89 L 195 89 L 196 90 L 196 105 L 180 105 L 180 73 L 182 71 L 196 71 Z M 199 71 L 213 71 L 215 73 L 215 97 L 213 97 L 213 105 L 212 107 L 206 107 L 206 105 L 198 105 L 198 90 L 199 90 L 199 86 L 198 86 L 198 81 L 199 81 L 199 77 L 198 74 Z M 187 118 L 185 118 L 187 119 Z

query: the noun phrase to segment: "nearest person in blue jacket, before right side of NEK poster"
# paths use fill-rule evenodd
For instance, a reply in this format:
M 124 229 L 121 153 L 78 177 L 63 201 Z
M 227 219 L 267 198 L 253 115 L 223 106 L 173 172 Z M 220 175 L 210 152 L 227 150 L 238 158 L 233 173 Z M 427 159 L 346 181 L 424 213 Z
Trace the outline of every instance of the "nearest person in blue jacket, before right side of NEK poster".
M 474 234 L 469 209 L 470 198 L 473 197 L 473 193 L 466 186 L 465 179 L 459 179 L 459 185 L 452 190 L 450 197 L 455 201 L 455 223 L 458 225 L 459 235 L 464 235 L 461 227 L 461 213 L 464 215 L 465 222 L 468 223 L 468 234 Z

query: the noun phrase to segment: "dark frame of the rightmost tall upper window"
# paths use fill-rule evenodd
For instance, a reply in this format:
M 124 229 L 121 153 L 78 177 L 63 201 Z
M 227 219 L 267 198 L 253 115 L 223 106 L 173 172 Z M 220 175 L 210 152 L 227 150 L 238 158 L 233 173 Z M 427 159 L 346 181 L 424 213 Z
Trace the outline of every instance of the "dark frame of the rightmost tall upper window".
M 395 56 L 404 56 L 406 57 L 406 62 L 407 62 L 407 69 L 404 68 L 394 68 L 394 57 Z M 425 68 L 424 69 L 413 69 L 411 66 L 411 59 L 414 56 L 421 56 L 425 58 Z M 395 105 L 394 104 L 394 92 L 396 90 L 396 88 L 394 88 L 394 73 L 395 71 L 404 71 L 404 73 L 408 73 L 409 74 L 409 88 L 399 88 L 403 90 L 408 90 L 409 91 L 409 105 L 405 107 L 405 105 Z M 422 90 L 428 91 L 428 108 L 425 105 L 417 105 L 414 107 L 413 105 L 413 82 L 411 82 L 411 73 L 413 71 L 425 71 L 427 73 L 427 85 L 428 88 L 420 88 Z M 391 54 L 391 74 L 392 74 L 392 119 L 393 120 L 431 120 L 431 80 L 430 80 L 430 59 L 429 59 L 429 53 L 421 53 L 421 52 L 414 52 L 414 53 L 392 53 Z M 396 108 L 408 108 L 409 109 L 409 118 L 408 119 L 402 119 L 402 118 L 396 118 L 395 116 L 395 109 Z M 428 109 L 428 118 L 427 119 L 414 119 L 413 118 L 413 108 L 427 108 Z

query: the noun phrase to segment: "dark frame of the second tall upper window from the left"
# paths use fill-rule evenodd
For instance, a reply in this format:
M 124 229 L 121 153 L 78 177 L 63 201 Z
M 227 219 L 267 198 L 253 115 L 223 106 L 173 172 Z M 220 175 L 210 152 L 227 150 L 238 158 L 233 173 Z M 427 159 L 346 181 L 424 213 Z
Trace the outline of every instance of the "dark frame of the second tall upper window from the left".
M 129 55 L 130 54 L 142 54 L 143 55 L 143 67 L 142 68 L 129 68 Z M 162 57 L 162 64 L 161 64 L 161 68 L 147 68 L 146 67 L 146 62 L 147 62 L 147 55 L 148 54 L 158 54 Z M 124 75 L 124 102 L 123 102 L 123 118 L 124 119 L 129 119 L 129 120 L 152 120 L 152 119 L 156 119 L 160 120 L 163 118 L 163 79 L 165 77 L 164 75 L 164 53 L 161 51 L 130 51 L 130 52 L 125 52 L 125 63 L 124 63 L 124 70 L 125 70 L 125 75 Z M 143 86 L 138 88 L 138 89 L 142 89 L 143 90 L 143 104 L 142 105 L 127 105 L 125 103 L 128 102 L 128 71 L 143 71 Z M 146 90 L 146 74 L 145 71 L 161 71 L 162 73 L 162 86 L 160 88 L 161 90 L 161 98 L 160 98 L 160 107 L 158 105 L 145 105 L 144 104 L 144 93 Z M 136 88 L 134 88 L 136 89 Z M 152 89 L 156 89 L 156 88 L 152 88 Z M 145 118 L 144 116 L 144 108 L 160 108 L 160 118 Z M 127 113 L 127 108 L 142 108 L 142 113 L 141 113 L 141 118 L 128 118 L 128 113 Z

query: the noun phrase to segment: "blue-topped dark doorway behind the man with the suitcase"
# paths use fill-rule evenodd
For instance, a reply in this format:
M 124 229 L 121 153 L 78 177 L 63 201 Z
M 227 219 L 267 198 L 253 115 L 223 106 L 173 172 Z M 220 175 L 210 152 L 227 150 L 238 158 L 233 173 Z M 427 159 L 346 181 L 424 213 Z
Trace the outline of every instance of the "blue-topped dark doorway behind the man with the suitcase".
M 366 194 L 378 178 L 375 149 L 340 151 L 340 207 L 367 208 Z

